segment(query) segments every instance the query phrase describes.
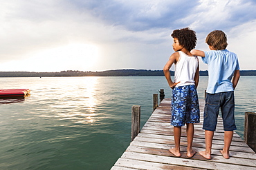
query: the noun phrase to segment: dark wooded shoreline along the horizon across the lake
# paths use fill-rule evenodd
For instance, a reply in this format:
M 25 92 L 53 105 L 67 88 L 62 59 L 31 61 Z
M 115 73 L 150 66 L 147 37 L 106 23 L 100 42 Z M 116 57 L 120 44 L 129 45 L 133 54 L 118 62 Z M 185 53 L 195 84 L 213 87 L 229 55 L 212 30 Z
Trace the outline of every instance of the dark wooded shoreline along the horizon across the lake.
M 174 71 L 170 71 L 174 75 Z M 208 76 L 208 71 L 200 71 L 200 76 Z M 256 70 L 240 70 L 241 76 L 256 76 Z M 62 72 L 0 72 L 0 77 L 54 77 L 54 76 L 164 76 L 163 70 L 107 70 L 83 72 L 68 70 Z

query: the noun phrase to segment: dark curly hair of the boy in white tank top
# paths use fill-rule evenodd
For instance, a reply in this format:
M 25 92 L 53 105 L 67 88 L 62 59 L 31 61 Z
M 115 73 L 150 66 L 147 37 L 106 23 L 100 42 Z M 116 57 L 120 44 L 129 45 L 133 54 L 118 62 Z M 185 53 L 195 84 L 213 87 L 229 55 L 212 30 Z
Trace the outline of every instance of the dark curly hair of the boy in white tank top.
M 196 32 L 190 30 L 190 28 L 181 28 L 180 30 L 174 30 L 171 36 L 172 38 L 178 39 L 179 44 L 189 51 L 196 47 Z

